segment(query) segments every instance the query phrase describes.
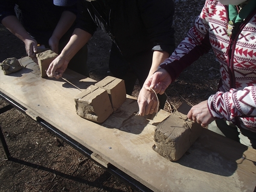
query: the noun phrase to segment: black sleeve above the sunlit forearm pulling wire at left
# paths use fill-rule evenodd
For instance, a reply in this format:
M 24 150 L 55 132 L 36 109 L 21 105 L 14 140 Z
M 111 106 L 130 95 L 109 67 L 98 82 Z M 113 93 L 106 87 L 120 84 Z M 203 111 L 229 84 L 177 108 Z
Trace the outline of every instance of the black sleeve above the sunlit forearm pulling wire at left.
M 82 29 L 91 35 L 94 34 L 94 32 L 97 29 L 96 24 L 94 23 L 94 20 L 96 20 L 95 15 L 89 13 L 88 11 L 88 6 L 90 7 L 91 4 L 90 2 L 84 1 L 79 1 L 78 3 L 78 17 L 77 17 L 77 25 L 76 28 Z M 90 9 L 92 10 L 92 9 Z M 94 20 L 93 20 L 93 18 Z

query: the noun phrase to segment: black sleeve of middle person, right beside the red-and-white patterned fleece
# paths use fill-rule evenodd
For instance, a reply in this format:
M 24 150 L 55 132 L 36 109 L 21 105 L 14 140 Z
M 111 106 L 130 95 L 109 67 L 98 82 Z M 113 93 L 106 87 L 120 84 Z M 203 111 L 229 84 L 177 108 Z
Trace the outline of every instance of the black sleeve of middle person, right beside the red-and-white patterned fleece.
M 175 49 L 175 30 L 172 27 L 175 3 L 173 0 L 138 0 L 141 18 L 153 42 L 152 50 L 166 51 L 171 55 Z

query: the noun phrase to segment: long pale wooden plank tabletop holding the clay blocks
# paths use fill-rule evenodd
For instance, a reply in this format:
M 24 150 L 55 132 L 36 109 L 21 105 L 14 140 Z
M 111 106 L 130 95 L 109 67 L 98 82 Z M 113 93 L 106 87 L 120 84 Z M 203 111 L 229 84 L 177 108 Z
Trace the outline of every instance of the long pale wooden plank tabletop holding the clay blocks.
M 0 91 L 150 189 L 254 190 L 256 150 L 204 130 L 180 160 L 170 162 L 152 149 L 154 128 L 170 113 L 136 116 L 137 100 L 127 96 L 105 122 L 91 122 L 76 114 L 73 97 L 80 90 L 63 79 L 41 78 L 38 69 L 30 63 L 9 76 L 1 71 Z M 96 82 L 70 70 L 64 77 L 81 90 Z

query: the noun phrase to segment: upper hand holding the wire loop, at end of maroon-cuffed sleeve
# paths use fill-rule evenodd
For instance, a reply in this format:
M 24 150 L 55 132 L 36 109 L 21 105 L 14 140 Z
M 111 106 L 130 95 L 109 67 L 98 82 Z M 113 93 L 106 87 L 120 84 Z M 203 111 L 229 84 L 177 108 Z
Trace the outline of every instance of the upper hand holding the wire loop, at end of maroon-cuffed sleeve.
M 157 70 L 149 79 L 144 83 L 145 90 L 151 91 L 151 88 L 162 95 L 166 88 L 171 84 L 172 78 L 165 69 Z

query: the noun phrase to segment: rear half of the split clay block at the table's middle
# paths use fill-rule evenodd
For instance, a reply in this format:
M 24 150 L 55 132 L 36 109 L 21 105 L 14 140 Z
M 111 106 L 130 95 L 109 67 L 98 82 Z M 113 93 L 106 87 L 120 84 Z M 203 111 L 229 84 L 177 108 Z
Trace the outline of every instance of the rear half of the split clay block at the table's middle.
M 126 99 L 125 81 L 115 77 L 107 76 L 95 84 L 108 91 L 113 110 L 116 111 Z

